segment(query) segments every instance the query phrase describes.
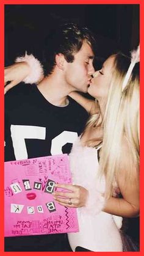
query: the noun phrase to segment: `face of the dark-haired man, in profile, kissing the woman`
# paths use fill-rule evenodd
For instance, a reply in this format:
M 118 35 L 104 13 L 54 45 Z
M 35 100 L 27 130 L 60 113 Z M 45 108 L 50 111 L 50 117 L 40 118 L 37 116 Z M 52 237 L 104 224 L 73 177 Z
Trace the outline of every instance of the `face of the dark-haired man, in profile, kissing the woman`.
M 93 51 L 88 43 L 84 42 L 80 51 L 74 54 L 72 63 L 65 63 L 65 81 L 70 88 L 80 92 L 87 92 L 93 68 Z

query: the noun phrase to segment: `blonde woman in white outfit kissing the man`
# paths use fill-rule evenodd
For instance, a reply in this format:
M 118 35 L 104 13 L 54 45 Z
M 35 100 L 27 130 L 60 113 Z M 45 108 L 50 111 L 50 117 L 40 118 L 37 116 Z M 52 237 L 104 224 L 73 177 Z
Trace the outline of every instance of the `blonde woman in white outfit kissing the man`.
M 70 154 L 73 183 L 88 191 L 85 207 L 77 208 L 79 232 L 68 234 L 73 251 L 122 251 L 112 214 L 139 214 L 139 64 L 131 63 L 123 54 L 104 62 L 88 87 L 96 102 L 70 94 L 90 113 Z M 56 191 L 54 199 L 65 207 L 76 203 L 73 192 Z

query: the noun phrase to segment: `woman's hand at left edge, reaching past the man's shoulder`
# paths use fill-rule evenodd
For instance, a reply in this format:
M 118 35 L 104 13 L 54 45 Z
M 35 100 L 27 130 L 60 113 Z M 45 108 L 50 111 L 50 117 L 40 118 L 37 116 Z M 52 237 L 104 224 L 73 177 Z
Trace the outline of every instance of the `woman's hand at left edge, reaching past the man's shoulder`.
M 26 62 L 17 62 L 11 66 L 4 68 L 4 93 L 6 93 L 9 89 L 16 84 L 19 84 L 29 75 L 30 67 Z M 9 82 L 7 84 L 7 82 Z

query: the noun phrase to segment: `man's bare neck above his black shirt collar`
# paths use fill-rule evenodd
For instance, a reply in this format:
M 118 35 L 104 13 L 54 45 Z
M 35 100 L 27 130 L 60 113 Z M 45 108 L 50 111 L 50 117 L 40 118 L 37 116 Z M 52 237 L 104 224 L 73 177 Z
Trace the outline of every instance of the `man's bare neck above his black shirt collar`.
M 45 77 L 37 87 L 49 103 L 55 106 L 65 106 L 68 103 L 67 95 L 70 89 L 60 76 L 51 74 Z

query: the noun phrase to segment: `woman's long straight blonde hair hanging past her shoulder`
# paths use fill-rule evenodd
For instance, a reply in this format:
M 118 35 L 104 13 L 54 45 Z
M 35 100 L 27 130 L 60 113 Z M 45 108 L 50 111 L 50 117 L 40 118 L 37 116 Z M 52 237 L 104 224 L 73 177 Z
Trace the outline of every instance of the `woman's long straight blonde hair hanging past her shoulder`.
M 135 64 L 131 78 L 122 92 L 123 80 L 130 59 L 123 54 L 115 54 L 113 75 L 107 97 L 103 147 L 99 161 L 99 175 L 106 177 L 106 198 L 112 196 L 113 182 L 123 162 L 122 145 L 128 142 L 129 159 L 126 177 L 137 177 L 139 170 L 139 63 Z M 98 115 L 96 117 L 98 119 Z M 88 125 L 96 122 L 91 118 Z M 134 168 L 135 167 L 135 168 Z

